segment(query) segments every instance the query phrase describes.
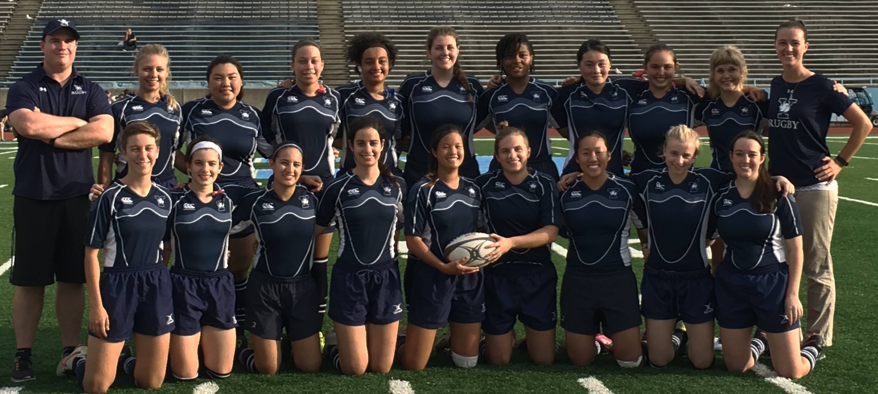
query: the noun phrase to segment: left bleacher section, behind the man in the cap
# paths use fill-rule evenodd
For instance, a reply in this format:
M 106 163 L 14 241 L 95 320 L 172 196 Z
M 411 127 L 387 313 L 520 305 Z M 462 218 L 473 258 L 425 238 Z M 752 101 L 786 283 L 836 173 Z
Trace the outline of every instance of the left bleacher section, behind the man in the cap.
M 194 87 L 205 81 L 205 67 L 219 53 L 234 55 L 245 78 L 277 81 L 290 75 L 291 43 L 318 36 L 314 0 L 278 1 L 45 1 L 7 81 L 40 63 L 41 29 L 49 18 L 76 21 L 82 39 L 76 67 L 98 83 L 128 84 L 133 52 L 119 46 L 125 30 L 139 46 L 168 48 L 173 81 Z

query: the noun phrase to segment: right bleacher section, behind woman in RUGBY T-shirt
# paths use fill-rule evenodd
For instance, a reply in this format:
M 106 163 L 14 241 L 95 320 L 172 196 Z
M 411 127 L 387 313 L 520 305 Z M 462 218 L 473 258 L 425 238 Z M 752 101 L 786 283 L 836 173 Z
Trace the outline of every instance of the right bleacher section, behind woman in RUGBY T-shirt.
M 781 72 L 774 55 L 774 31 L 793 17 L 802 18 L 809 29 L 810 48 L 805 55 L 809 69 L 847 84 L 869 84 L 878 76 L 874 1 L 634 0 L 634 4 L 656 38 L 674 47 L 689 77 L 709 77 L 710 53 L 731 44 L 744 52 L 748 77 L 766 83 L 766 78 Z

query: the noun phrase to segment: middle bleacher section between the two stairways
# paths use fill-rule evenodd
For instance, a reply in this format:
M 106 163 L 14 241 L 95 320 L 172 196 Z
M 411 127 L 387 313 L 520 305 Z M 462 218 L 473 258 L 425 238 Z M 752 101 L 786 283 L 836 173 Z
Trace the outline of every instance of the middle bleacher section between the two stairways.
M 461 65 L 483 82 L 497 74 L 494 47 L 504 34 L 528 34 L 536 52 L 535 77 L 554 82 L 579 73 L 576 51 L 584 40 L 600 38 L 613 51 L 613 67 L 630 73 L 640 51 L 606 1 L 357 1 L 343 0 L 346 39 L 378 31 L 399 49 L 388 78 L 398 82 L 428 69 L 426 39 L 430 27 L 450 25 L 461 42 Z M 349 68 L 351 79 L 358 79 Z

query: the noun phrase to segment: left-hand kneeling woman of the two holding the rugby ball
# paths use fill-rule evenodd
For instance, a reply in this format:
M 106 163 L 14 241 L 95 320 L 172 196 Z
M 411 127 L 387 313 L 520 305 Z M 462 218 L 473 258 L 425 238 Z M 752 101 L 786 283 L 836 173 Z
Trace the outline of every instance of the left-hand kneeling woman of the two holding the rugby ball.
M 485 290 L 477 267 L 464 259 L 446 261 L 443 248 L 476 230 L 482 198 L 472 179 L 458 174 L 464 162 L 464 134 L 455 125 L 435 130 L 428 176 L 412 186 L 406 206 L 408 252 L 413 264 L 402 366 L 421 370 L 433 352 L 435 333 L 450 325 L 451 360 L 463 368 L 479 361 L 479 334 L 485 319 Z M 411 261 L 411 260 L 410 260 Z

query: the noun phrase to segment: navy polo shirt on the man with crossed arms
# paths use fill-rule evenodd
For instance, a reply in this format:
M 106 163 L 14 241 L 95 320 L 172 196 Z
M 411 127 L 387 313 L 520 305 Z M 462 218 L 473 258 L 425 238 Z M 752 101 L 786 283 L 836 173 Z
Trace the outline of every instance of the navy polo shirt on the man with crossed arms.
M 26 108 L 40 113 L 90 120 L 112 115 L 104 89 L 73 69 L 64 86 L 48 77 L 43 65 L 22 77 L 9 89 L 6 109 Z M 34 200 L 64 200 L 89 193 L 95 183 L 91 149 L 65 150 L 46 142 L 18 136 L 12 194 Z

